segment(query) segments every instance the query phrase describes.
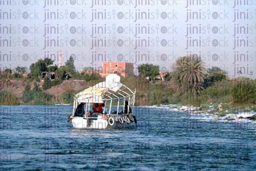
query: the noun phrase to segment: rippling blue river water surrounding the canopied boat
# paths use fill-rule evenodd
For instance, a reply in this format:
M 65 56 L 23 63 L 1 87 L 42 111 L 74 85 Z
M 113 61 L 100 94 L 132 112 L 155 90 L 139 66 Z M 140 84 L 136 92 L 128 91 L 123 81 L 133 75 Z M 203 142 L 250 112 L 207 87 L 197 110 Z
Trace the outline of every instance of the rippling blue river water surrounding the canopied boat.
M 0 106 L 1 170 L 255 170 L 254 122 L 134 107 L 128 129 L 77 129 L 72 106 Z

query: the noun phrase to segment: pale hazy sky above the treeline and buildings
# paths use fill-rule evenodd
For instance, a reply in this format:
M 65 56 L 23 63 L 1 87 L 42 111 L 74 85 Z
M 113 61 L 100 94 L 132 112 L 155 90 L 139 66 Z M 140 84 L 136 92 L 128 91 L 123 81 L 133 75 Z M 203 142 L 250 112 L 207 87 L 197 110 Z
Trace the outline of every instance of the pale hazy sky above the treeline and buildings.
M 230 77 L 238 67 L 256 78 L 255 6 L 251 0 L 1 0 L 0 67 L 29 68 L 48 55 L 58 64 L 61 46 L 62 64 L 72 54 L 78 71 L 98 68 L 102 59 L 165 71 L 177 56 L 196 53 Z

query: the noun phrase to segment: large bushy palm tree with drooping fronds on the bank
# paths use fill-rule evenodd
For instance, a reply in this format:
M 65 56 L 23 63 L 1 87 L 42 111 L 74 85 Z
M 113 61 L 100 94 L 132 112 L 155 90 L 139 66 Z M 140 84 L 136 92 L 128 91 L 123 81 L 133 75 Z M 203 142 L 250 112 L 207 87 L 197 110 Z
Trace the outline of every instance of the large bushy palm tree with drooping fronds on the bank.
M 173 69 L 172 78 L 182 89 L 180 92 L 200 92 L 206 74 L 204 62 L 200 57 L 194 54 L 178 57 Z

